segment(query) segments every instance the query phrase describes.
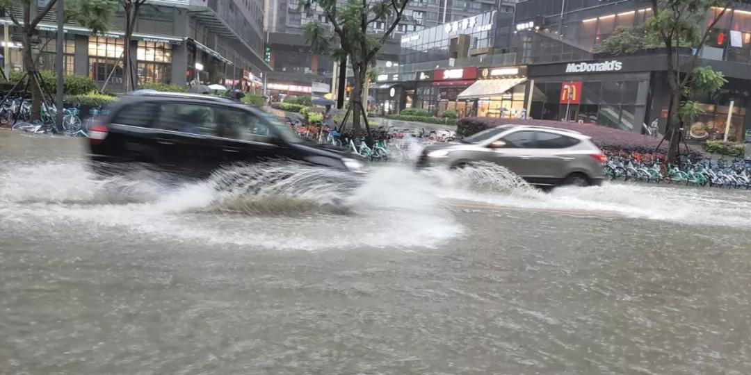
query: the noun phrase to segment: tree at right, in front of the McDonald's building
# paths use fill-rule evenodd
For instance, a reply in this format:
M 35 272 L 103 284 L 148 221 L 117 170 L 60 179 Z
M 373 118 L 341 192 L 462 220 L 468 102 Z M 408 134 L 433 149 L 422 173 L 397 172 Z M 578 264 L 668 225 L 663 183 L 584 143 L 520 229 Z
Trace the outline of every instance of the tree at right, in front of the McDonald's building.
M 647 20 L 647 32 L 659 40 L 665 49 L 668 70 L 665 75 L 670 89 L 668 107 L 669 136 L 668 160 L 675 161 L 680 147 L 683 124 L 695 118 L 701 110 L 691 101 L 692 92 L 714 92 L 727 81 L 722 73 L 708 66 L 697 67 L 701 49 L 710 37 L 714 26 L 725 15 L 730 0 L 651 0 L 653 17 Z M 718 11 L 711 11 L 712 8 Z M 704 17 L 709 24 L 704 31 L 700 27 Z M 689 62 L 681 62 L 681 46 L 692 46 Z

